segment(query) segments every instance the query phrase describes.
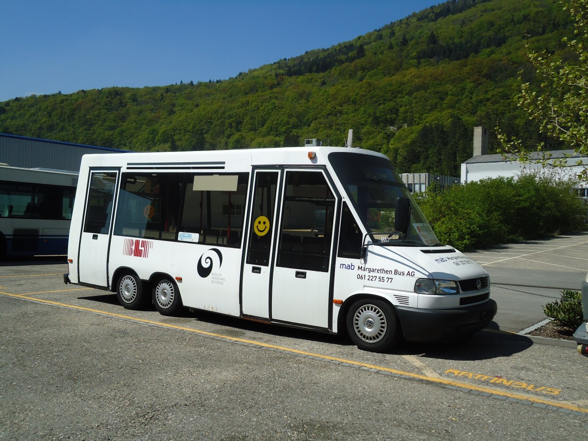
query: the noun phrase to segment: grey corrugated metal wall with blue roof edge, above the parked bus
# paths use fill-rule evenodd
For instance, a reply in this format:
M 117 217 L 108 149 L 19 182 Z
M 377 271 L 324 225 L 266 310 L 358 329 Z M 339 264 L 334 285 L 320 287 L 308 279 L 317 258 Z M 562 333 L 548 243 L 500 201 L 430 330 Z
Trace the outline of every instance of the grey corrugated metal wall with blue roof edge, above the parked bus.
M 78 173 L 83 155 L 120 152 L 122 150 L 0 133 L 0 163 L 13 167 L 42 167 Z

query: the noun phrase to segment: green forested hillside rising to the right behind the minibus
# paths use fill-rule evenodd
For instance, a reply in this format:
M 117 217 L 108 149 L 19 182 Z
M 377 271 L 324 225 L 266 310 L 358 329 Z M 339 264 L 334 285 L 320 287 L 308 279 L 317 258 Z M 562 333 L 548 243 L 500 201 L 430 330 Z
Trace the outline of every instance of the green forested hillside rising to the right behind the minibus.
M 451 0 L 225 81 L 15 98 L 0 103 L 0 132 L 175 151 L 343 145 L 352 128 L 354 145 L 400 172 L 457 176 L 474 126 L 490 129 L 490 152 L 497 122 L 536 143 L 514 99 L 520 71 L 533 81 L 524 42 L 569 58 L 561 40 L 572 35 L 556 0 Z

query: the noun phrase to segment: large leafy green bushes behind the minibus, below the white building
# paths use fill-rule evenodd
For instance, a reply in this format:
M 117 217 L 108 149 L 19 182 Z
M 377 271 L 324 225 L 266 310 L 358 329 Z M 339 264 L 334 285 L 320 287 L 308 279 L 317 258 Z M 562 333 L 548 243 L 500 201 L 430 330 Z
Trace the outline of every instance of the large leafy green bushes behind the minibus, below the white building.
M 585 229 L 575 182 L 540 170 L 430 187 L 418 201 L 439 240 L 467 251 Z

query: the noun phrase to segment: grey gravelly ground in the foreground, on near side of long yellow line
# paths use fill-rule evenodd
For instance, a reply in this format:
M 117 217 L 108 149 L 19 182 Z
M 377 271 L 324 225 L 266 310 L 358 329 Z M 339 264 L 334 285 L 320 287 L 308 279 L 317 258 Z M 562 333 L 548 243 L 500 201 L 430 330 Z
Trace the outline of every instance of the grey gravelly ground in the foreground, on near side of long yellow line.
M 586 416 L 530 401 L 132 320 L 5 296 L 0 318 L 0 439 L 584 440 L 588 430 Z M 528 365 L 521 356 L 511 363 Z

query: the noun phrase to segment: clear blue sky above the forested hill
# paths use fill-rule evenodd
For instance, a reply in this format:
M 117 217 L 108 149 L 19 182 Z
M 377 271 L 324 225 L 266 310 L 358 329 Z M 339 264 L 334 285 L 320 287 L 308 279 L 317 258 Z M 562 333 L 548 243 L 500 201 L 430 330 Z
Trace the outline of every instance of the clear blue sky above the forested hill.
M 440 0 L 1 0 L 0 101 L 227 79 Z

